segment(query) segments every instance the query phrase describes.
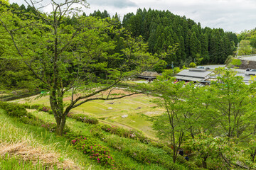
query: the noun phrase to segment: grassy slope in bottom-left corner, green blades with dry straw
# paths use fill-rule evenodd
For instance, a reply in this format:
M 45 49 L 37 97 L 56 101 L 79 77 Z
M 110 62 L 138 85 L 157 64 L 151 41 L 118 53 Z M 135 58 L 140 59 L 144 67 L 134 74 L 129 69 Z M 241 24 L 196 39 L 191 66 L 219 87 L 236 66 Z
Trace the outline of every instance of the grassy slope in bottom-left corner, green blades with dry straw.
M 16 118 L 7 117 L 1 109 L 0 157 L 0 169 L 6 170 L 14 169 L 13 164 L 21 162 L 20 159 L 28 164 L 28 169 L 36 169 L 39 165 L 60 169 L 102 169 L 102 166 L 71 147 L 64 137 L 56 137 L 40 127 L 19 123 Z M 3 159 L 6 157 L 9 159 Z

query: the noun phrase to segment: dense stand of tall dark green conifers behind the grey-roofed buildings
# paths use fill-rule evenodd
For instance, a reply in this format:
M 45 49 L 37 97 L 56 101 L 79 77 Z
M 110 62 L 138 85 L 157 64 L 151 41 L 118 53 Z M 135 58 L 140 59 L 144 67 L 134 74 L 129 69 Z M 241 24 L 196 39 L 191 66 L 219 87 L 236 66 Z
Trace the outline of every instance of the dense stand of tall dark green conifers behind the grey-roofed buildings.
M 106 18 L 107 11 L 95 11 L 90 16 Z M 114 16 L 117 18 L 117 15 Z M 148 11 L 139 8 L 137 13 L 124 15 L 122 26 L 134 37 L 142 35 L 149 44 L 149 52 L 160 53 L 167 47 L 178 45 L 175 55 L 166 57 L 167 64 L 174 62 L 176 67 L 197 64 L 223 64 L 228 55 L 233 55 L 238 38 L 235 33 L 223 29 L 202 28 L 201 23 L 177 16 L 170 11 Z

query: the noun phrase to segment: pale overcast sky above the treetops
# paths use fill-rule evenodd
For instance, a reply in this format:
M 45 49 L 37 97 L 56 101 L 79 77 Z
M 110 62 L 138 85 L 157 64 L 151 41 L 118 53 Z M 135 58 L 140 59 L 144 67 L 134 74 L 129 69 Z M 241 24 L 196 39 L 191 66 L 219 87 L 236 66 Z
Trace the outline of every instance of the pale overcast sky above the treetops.
M 9 1 L 23 3 L 23 0 Z M 87 3 L 90 8 L 85 9 L 86 14 L 106 9 L 110 16 L 117 12 L 122 19 L 126 13 L 136 13 L 138 8 L 151 8 L 186 16 L 200 22 L 202 27 L 223 28 L 235 33 L 256 28 L 255 0 L 87 0 Z

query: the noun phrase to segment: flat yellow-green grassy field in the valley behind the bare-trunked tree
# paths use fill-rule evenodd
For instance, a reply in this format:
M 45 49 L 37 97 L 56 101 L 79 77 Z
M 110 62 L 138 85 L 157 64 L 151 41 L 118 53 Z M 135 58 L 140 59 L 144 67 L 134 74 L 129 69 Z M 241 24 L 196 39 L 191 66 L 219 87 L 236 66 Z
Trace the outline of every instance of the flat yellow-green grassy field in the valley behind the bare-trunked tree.
M 155 132 L 152 130 L 152 121 L 150 118 L 164 112 L 161 108 L 153 108 L 155 106 L 151 100 L 154 97 L 144 94 L 129 96 L 112 101 L 90 101 L 73 108 L 72 113 L 83 113 L 99 118 L 104 123 L 119 125 L 124 128 L 134 128 L 141 130 L 148 137 L 156 140 Z M 66 103 L 69 103 L 70 97 L 64 98 Z M 49 96 L 36 98 L 22 98 L 13 102 L 43 104 L 50 106 Z M 127 118 L 122 118 L 122 115 L 128 115 Z

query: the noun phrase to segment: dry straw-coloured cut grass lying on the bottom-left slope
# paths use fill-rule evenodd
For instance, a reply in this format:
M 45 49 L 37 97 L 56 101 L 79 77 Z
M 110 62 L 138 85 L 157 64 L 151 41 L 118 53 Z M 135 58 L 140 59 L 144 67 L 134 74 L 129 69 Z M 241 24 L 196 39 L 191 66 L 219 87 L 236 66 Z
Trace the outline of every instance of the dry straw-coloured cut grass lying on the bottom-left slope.
M 22 143 L 0 143 L 0 157 L 4 157 L 6 154 L 9 157 L 21 157 L 23 161 L 31 161 L 33 164 L 38 163 L 38 159 L 43 165 L 49 166 L 53 169 L 56 165 L 58 169 L 80 169 L 79 166 L 75 165 L 70 159 L 64 159 L 60 162 L 58 158 L 60 155 L 53 152 L 45 152 L 41 147 L 31 147 L 25 142 Z

